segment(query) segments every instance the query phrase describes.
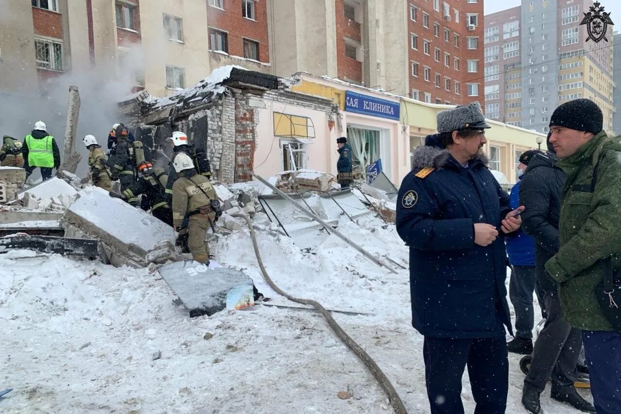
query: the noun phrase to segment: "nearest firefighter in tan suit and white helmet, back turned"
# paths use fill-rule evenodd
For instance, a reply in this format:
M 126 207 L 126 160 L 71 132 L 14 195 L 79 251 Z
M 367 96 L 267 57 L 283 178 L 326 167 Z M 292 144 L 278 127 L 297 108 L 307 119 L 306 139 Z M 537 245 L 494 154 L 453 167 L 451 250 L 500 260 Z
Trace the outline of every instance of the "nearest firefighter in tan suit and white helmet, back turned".
M 177 154 L 173 160 L 179 178 L 173 184 L 173 223 L 180 240 L 187 244 L 194 260 L 209 264 L 209 246 L 205 234 L 209 224 L 222 215 L 222 203 L 207 177 L 200 175 L 188 154 Z

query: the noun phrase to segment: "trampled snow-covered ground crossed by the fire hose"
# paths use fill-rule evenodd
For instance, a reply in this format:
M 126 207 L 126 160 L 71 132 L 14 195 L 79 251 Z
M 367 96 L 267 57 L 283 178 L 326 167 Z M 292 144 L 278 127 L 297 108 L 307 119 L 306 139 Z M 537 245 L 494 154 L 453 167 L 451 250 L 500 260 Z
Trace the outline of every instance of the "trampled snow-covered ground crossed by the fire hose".
M 407 265 L 394 226 L 342 221 L 368 251 Z M 268 273 L 297 297 L 373 315 L 336 320 L 391 379 L 409 413 L 428 413 L 422 337 L 410 324 L 409 276 L 391 274 L 336 236 L 309 253 L 259 234 Z M 246 229 L 211 246 L 274 303 Z M 391 413 L 386 396 L 318 313 L 256 305 L 190 319 L 147 269 L 58 255 L 0 255 L 0 400 L 11 413 Z M 154 357 L 160 356 L 158 359 Z M 520 357 L 510 356 L 507 413 L 525 413 Z M 351 397 L 342 400 L 338 392 Z M 587 399 L 591 396 L 580 390 Z M 468 375 L 466 412 L 474 411 Z M 542 394 L 546 413 L 574 413 Z M 577 412 L 576 412 L 577 413 Z

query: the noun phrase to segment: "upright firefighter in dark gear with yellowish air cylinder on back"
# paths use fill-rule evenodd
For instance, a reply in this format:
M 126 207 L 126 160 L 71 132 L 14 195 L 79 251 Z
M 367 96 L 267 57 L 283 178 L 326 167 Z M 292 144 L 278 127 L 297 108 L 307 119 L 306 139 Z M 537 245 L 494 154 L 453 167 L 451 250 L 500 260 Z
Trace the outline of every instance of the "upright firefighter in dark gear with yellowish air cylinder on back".
M 119 125 L 114 132 L 116 145 L 110 150 L 106 165 L 110 168 L 112 180 L 119 180 L 120 191 L 123 192 L 136 182 L 134 145 L 129 140 L 129 129 L 127 127 Z M 127 203 L 138 207 L 140 206 L 140 199 L 132 197 L 127 200 Z

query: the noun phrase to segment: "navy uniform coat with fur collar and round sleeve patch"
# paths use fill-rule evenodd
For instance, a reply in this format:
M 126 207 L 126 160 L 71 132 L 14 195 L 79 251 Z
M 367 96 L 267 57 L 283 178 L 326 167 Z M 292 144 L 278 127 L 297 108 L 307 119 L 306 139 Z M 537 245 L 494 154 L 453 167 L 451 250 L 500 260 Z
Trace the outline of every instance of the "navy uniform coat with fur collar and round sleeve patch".
M 412 326 L 438 338 L 491 338 L 510 332 L 501 220 L 511 210 L 482 159 L 468 168 L 447 150 L 419 147 L 397 198 L 397 232 L 410 247 Z M 427 177 L 415 174 L 435 168 Z M 487 247 L 474 244 L 474 223 L 496 226 Z

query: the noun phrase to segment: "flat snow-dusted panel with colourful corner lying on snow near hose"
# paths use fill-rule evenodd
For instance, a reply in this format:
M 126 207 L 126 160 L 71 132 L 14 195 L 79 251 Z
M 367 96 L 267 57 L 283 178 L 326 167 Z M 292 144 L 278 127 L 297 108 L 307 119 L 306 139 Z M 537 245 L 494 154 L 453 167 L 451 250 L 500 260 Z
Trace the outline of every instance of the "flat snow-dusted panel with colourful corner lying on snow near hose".
M 209 267 L 194 260 L 175 262 L 163 265 L 158 272 L 183 301 L 190 318 L 254 305 L 252 279 L 215 262 Z

